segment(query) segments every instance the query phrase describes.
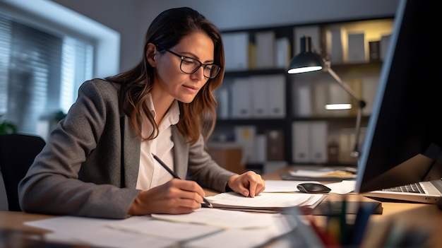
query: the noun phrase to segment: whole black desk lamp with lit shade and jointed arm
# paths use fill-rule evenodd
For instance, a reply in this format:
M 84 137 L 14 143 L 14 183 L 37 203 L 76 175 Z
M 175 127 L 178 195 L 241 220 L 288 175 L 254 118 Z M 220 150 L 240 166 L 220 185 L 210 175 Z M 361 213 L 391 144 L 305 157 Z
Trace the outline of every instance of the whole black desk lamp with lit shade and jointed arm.
M 335 81 L 337 81 L 339 85 L 341 85 L 342 88 L 344 88 L 344 90 L 347 91 L 347 93 L 349 93 L 352 98 L 354 98 L 354 100 L 358 102 L 355 128 L 356 136 L 354 138 L 354 148 L 352 150 L 352 153 L 350 154 L 352 155 L 352 157 L 358 158 L 359 132 L 362 118 L 362 109 L 365 107 L 366 103 L 364 102 L 364 100 L 362 100 L 362 98 L 359 97 L 359 95 L 357 95 L 357 93 L 354 92 L 354 90 L 352 90 L 352 88 L 350 88 L 347 83 L 345 83 L 345 81 L 342 81 L 342 79 L 335 73 L 335 71 L 331 69 L 330 61 L 322 59 L 319 54 L 313 52 L 313 49 L 311 48 L 311 37 L 301 37 L 300 48 L 301 52 L 293 57 L 292 61 L 290 61 L 287 73 L 304 73 L 319 70 L 328 72 L 333 78 L 335 78 Z

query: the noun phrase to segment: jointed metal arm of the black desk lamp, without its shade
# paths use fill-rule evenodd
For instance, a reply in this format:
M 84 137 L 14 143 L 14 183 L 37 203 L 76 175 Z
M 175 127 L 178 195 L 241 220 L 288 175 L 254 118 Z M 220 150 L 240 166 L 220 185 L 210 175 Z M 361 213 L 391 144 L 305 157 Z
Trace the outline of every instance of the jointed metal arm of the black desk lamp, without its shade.
M 355 132 L 354 146 L 353 146 L 352 153 L 350 153 L 350 155 L 354 158 L 359 158 L 359 133 L 361 131 L 362 110 L 364 109 L 366 102 L 364 100 L 362 100 L 362 98 L 360 98 L 357 95 L 357 93 L 355 93 L 354 90 L 352 90 L 352 88 L 350 88 L 350 85 L 345 83 L 345 81 L 342 81 L 342 79 L 335 73 L 335 71 L 333 71 L 330 68 L 329 61 L 324 61 L 324 64 L 325 64 L 324 70 L 328 71 L 328 73 L 330 73 L 330 75 L 333 78 L 335 78 L 335 81 L 337 81 L 339 83 L 339 85 L 341 85 L 342 88 L 344 88 L 344 90 L 347 91 L 347 93 L 349 93 L 352 96 L 352 98 L 354 98 L 358 102 L 357 116 L 356 116 L 356 127 L 354 129 L 354 132 Z

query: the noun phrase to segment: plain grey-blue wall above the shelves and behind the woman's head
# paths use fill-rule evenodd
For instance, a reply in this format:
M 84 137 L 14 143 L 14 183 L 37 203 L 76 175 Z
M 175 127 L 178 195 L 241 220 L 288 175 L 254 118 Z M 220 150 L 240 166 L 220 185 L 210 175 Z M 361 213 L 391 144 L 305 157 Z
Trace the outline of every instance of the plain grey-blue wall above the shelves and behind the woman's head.
M 392 16 L 400 0 L 52 0 L 121 33 L 120 69 L 138 63 L 145 31 L 167 8 L 189 6 L 220 30 Z

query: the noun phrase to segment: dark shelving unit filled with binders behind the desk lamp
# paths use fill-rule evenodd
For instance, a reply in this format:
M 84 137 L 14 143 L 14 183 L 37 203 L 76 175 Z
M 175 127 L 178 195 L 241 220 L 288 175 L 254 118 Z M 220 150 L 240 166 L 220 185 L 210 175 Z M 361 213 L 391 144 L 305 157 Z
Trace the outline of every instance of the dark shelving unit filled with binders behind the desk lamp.
M 210 143 L 212 142 L 231 141 L 241 143 L 238 134 L 235 133 L 235 129 L 237 129 L 238 126 L 249 126 L 251 127 L 249 131 L 254 134 L 252 137 L 253 140 L 246 141 L 244 146 L 267 145 L 267 147 L 261 147 L 261 150 L 259 147 L 258 149 L 255 147 L 251 149 L 252 151 L 249 150 L 248 152 L 243 150 L 245 153 L 252 153 L 249 155 L 249 158 L 247 158 L 248 160 L 246 160 L 247 168 L 262 167 L 262 165 L 265 165 L 269 161 L 279 161 L 289 165 L 314 165 L 318 163 L 322 165 L 355 165 L 356 159 L 352 160 L 351 158 L 343 159 L 338 157 L 330 157 L 330 159 L 328 159 L 329 148 L 333 148 L 333 146 L 331 146 L 333 142 L 342 146 L 340 141 L 342 141 L 343 132 L 348 133 L 347 136 L 349 137 L 352 136 L 351 130 L 354 129 L 356 122 L 356 115 L 353 110 L 355 108 L 339 114 L 321 109 L 326 101 L 332 98 L 338 98 L 338 96 L 345 98 L 345 101 L 348 102 L 350 95 L 345 93 L 345 90 L 340 88 L 340 85 L 338 85 L 328 73 L 318 71 L 313 73 L 287 74 L 287 66 L 289 59 L 291 59 L 296 53 L 296 50 L 299 49 L 297 48 L 297 42 L 299 42 L 297 37 L 303 35 L 302 33 L 313 36 L 316 39 L 316 41 L 313 42 L 313 46 L 314 44 L 318 45 L 318 47 L 313 47 L 316 49 L 316 52 L 320 53 L 326 59 L 330 59 L 330 61 L 332 61 L 331 67 L 333 71 L 335 71 L 342 80 L 349 83 L 353 90 L 360 93 L 364 100 L 366 100 L 367 106 L 364 109 L 361 125 L 364 127 L 369 120 L 371 102 L 376 93 L 378 76 L 382 67 L 381 59 L 369 59 L 370 51 L 368 49 L 369 45 L 372 45 L 369 44 L 369 42 L 378 42 L 376 44 L 377 48 L 381 47 L 381 40 L 390 35 L 392 28 L 393 17 L 388 16 L 370 20 L 346 20 L 335 23 L 312 23 L 306 25 L 286 25 L 280 27 L 224 31 L 223 35 L 228 36 L 225 41 L 226 63 L 237 64 L 235 65 L 236 67 L 226 65 L 223 85 L 215 93 L 220 105 L 217 110 L 217 124 L 208 143 L 208 147 L 210 148 Z M 336 35 L 336 30 L 342 35 L 342 57 L 338 58 L 338 61 L 339 59 L 341 60 L 340 62 L 333 62 L 336 61 L 336 57 L 334 59 L 330 57 L 331 54 L 336 56 L 336 53 L 330 50 L 331 47 L 333 47 L 330 44 L 330 40 L 333 40 L 333 32 Z M 350 54 L 346 52 L 348 49 L 347 35 L 353 33 L 359 34 L 359 37 L 361 33 L 364 34 L 364 47 L 366 48 L 366 59 L 364 59 L 364 61 L 357 61 L 357 59 L 352 61 Z M 235 34 L 239 34 L 238 37 L 232 38 Z M 259 37 L 260 35 L 261 37 Z M 239 43 L 234 43 L 235 40 Z M 271 41 L 270 43 L 269 40 Z M 386 43 L 386 41 L 383 40 L 383 43 Z M 267 47 L 271 51 L 263 52 L 263 47 Z M 244 49 L 247 49 L 245 54 L 248 54 L 248 57 L 240 57 L 239 60 L 238 58 L 232 58 L 238 56 L 238 54 L 244 54 Z M 237 52 L 236 54 L 234 53 L 235 51 Z M 261 51 L 261 53 L 258 51 Z M 260 57 L 260 54 L 266 55 L 265 57 Z M 377 55 L 381 57 L 381 54 L 378 53 Z M 270 58 L 273 61 L 270 61 L 270 63 L 257 63 L 257 61 L 265 58 Z M 235 61 L 235 59 L 237 59 L 237 61 Z M 268 76 L 280 76 L 283 78 L 283 89 L 279 89 L 280 92 L 282 92 L 280 98 L 269 99 L 266 103 L 270 105 L 273 101 L 282 101 L 283 114 L 275 117 L 271 116 L 271 114 L 253 114 L 253 110 L 250 110 L 251 112 L 247 112 L 244 115 L 241 115 L 242 112 L 232 115 L 233 111 L 237 111 L 237 109 L 235 110 L 234 108 L 241 107 L 238 104 L 232 106 L 232 102 L 238 102 L 238 99 L 236 99 L 236 101 L 232 100 L 232 95 L 241 91 L 234 88 L 237 81 L 249 83 L 245 89 L 242 89 L 243 92 L 239 94 L 239 101 L 249 101 L 247 99 L 253 98 L 253 90 L 258 90 L 256 91 L 259 93 L 258 99 L 250 100 L 252 102 L 250 106 L 253 109 L 253 102 L 255 102 L 255 105 L 263 105 L 263 102 L 266 101 L 265 97 L 271 95 L 272 90 L 275 90 L 273 88 L 274 85 L 271 83 L 273 83 L 272 80 L 277 81 L 277 79 L 268 79 L 267 83 L 270 85 L 265 86 L 265 88 L 258 86 L 258 83 L 256 83 L 259 80 L 256 78 L 265 78 Z M 257 88 L 253 89 L 253 87 Z M 279 85 L 277 87 L 279 87 Z M 275 86 L 275 88 L 277 87 Z M 321 90 L 323 95 L 318 93 Z M 257 97 L 255 96 L 255 98 Z M 301 104 L 299 104 L 300 102 Z M 265 111 L 271 112 L 271 110 Z M 296 141 L 297 138 L 293 132 L 294 122 L 309 122 L 309 124 L 321 122 L 325 124 L 326 137 L 323 137 L 325 139 L 323 139 L 324 142 L 321 145 L 327 153 L 325 154 L 325 160 L 318 162 L 318 160 L 313 159 L 299 162 L 294 158 L 294 141 Z M 277 138 L 276 143 L 268 142 L 269 135 L 276 134 L 271 133 L 271 131 L 280 131 L 280 136 L 282 134 L 282 137 Z M 362 138 L 359 138 L 360 141 L 363 140 L 364 136 L 364 129 L 362 129 L 362 131 L 362 136 L 360 136 Z M 249 144 L 247 144 L 247 142 L 249 142 Z M 275 148 L 279 149 L 279 151 L 276 150 L 276 159 L 268 160 L 265 156 L 263 158 L 263 153 L 268 155 L 270 148 L 273 148 L 274 151 Z M 245 150 L 246 149 L 250 148 L 245 148 Z M 338 149 L 342 150 L 342 147 Z M 272 156 L 275 157 L 274 155 L 275 154 Z M 252 159 L 250 159 L 250 157 Z

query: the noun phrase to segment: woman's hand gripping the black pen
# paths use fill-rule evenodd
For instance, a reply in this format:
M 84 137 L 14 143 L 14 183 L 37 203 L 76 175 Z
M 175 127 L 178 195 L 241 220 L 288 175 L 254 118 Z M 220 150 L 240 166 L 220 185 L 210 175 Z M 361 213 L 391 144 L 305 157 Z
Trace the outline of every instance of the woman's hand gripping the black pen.
M 204 190 L 196 182 L 172 179 L 152 189 L 141 191 L 129 208 L 129 215 L 151 213 L 191 213 L 201 208 Z

